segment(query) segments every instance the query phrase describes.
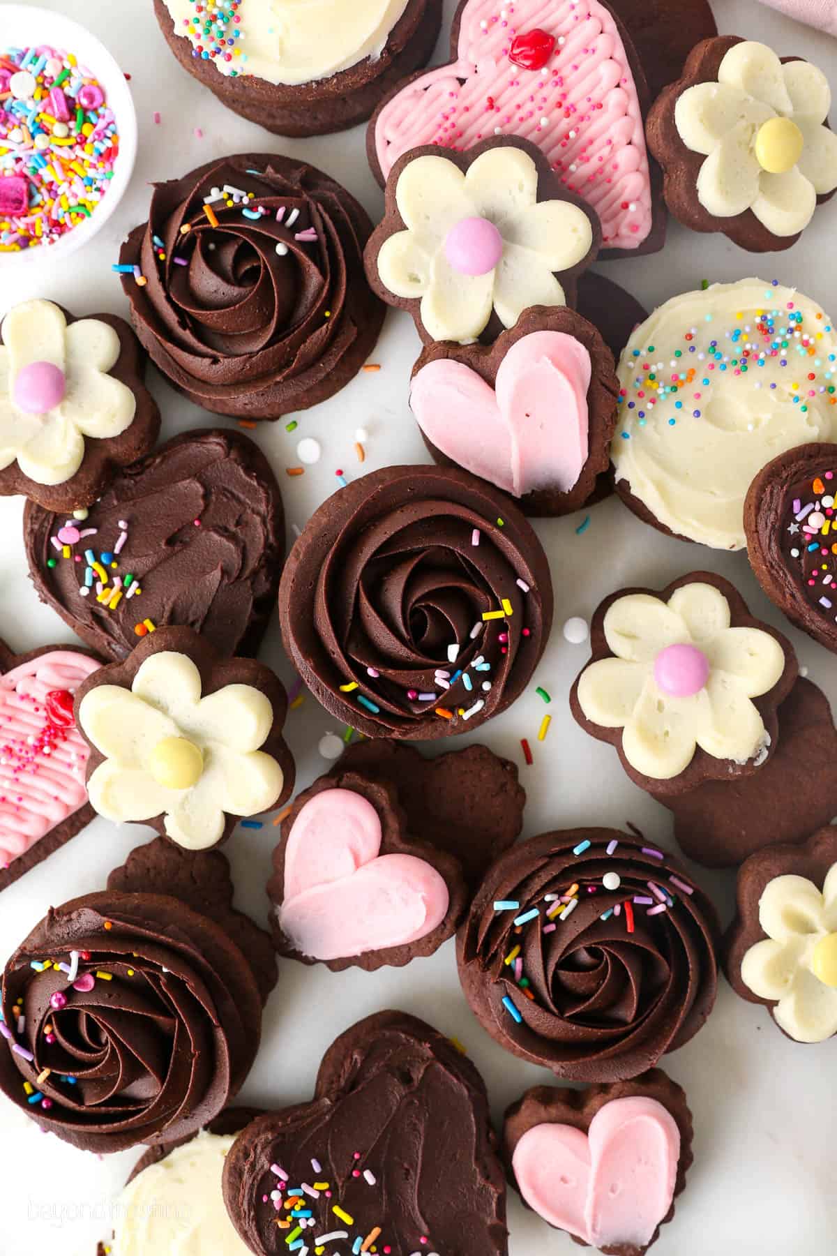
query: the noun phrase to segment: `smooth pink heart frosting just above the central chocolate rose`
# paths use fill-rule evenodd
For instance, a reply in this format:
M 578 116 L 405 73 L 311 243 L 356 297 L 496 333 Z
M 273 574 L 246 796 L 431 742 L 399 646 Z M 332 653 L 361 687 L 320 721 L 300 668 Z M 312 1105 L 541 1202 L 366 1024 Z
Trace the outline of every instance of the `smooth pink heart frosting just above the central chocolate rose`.
M 565 332 L 532 332 L 508 350 L 494 387 L 437 358 L 413 377 L 410 407 L 442 453 L 514 497 L 568 492 L 587 461 L 590 353 Z

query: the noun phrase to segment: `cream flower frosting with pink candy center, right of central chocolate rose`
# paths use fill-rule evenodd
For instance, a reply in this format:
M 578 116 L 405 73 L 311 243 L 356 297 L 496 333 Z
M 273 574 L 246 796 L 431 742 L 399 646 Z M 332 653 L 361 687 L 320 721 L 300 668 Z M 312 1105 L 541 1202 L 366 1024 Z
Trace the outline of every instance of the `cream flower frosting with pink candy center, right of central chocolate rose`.
M 714 759 L 744 764 L 767 745 L 752 698 L 777 685 L 784 651 L 759 628 L 729 624 L 727 598 L 700 580 L 680 585 L 668 602 L 630 593 L 607 608 L 602 628 L 615 657 L 585 668 L 577 701 L 591 723 L 624 728 L 622 754 L 642 776 L 679 776 L 698 747 Z M 671 654 L 676 647 L 690 652 Z M 696 681 L 686 671 L 695 658 Z

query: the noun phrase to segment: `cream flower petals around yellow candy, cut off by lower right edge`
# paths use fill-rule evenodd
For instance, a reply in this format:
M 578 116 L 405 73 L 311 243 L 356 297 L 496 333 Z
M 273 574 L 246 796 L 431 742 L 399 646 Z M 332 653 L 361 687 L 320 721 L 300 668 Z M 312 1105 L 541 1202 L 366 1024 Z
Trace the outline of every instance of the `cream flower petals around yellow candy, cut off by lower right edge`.
M 818 947 L 837 938 L 837 863 L 822 891 L 807 877 L 774 877 L 758 914 L 767 937 L 744 953 L 742 981 L 758 999 L 776 1001 L 777 1025 L 797 1042 L 824 1041 L 837 1034 L 837 978 L 823 971 Z

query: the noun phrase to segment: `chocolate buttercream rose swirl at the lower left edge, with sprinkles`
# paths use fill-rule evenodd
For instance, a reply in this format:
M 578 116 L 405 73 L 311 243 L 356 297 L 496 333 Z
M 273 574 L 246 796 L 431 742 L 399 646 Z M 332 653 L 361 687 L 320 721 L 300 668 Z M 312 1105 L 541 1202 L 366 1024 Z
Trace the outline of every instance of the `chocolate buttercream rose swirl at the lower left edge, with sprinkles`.
M 3 1015 L 0 1089 L 65 1142 L 118 1152 L 217 1115 L 259 1048 L 261 996 L 207 916 L 108 891 L 50 908 L 6 965 Z

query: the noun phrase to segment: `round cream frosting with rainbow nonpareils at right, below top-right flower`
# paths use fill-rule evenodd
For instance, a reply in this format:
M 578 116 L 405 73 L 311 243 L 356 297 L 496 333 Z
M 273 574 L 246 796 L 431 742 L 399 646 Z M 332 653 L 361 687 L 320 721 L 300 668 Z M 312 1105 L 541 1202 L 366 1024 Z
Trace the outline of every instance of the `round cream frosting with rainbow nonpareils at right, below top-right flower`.
M 762 467 L 836 438 L 836 364 L 828 315 L 776 280 L 673 298 L 619 363 L 617 485 L 675 535 L 743 549 L 744 497 Z

